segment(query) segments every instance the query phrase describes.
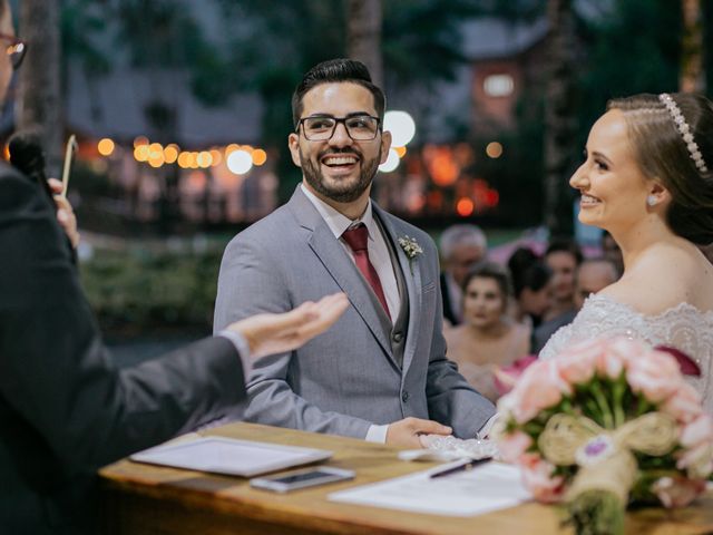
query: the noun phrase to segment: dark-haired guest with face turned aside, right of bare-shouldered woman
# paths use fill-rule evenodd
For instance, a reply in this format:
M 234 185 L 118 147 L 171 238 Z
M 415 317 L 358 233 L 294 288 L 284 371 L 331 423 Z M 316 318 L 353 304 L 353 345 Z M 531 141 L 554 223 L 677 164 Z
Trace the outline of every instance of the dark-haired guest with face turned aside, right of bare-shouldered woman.
M 534 329 L 543 321 L 553 300 L 553 272 L 528 247 L 517 249 L 508 260 L 515 299 L 511 315 Z

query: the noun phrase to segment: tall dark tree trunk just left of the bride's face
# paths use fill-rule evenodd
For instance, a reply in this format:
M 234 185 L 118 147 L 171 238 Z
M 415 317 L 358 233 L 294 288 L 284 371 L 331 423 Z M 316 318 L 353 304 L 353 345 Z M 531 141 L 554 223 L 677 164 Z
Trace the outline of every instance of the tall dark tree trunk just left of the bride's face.
M 574 18 L 572 0 L 548 0 L 547 90 L 545 101 L 545 224 L 553 235 L 572 235 L 567 183 L 574 142 Z

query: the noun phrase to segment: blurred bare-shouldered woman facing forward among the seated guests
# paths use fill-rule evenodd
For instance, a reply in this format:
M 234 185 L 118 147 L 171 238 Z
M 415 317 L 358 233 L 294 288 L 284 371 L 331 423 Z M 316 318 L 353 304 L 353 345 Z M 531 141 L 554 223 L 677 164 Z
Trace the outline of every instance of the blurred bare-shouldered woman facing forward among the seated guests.
M 527 354 L 529 328 L 507 315 L 512 295 L 505 268 L 485 262 L 463 280 L 463 322 L 446 331 L 448 358 L 458 363 L 462 376 L 480 393 L 498 397 L 494 371 Z

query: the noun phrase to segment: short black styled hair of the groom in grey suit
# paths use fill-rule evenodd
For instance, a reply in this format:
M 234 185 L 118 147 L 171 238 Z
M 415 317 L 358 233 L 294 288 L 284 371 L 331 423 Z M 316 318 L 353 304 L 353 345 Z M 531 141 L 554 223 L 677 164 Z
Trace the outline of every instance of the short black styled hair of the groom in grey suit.
M 383 123 L 383 113 L 387 108 L 387 97 L 381 88 L 374 86 L 371 81 L 369 69 L 361 61 L 354 59 L 330 59 L 315 65 L 302 77 L 302 81 L 297 84 L 292 94 L 292 121 L 295 129 L 302 116 L 302 99 L 304 95 L 312 88 L 321 84 L 331 82 L 349 82 L 358 84 L 371 91 L 374 97 L 374 109 L 377 115 Z

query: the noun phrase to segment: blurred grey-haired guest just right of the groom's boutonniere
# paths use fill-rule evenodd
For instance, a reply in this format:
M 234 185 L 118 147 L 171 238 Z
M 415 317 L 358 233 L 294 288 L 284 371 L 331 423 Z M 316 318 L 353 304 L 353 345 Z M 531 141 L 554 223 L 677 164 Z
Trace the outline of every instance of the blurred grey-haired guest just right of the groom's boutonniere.
M 443 263 L 441 293 L 443 294 L 443 318 L 451 325 L 462 321 L 462 285 L 468 271 L 486 257 L 488 242 L 485 233 L 476 225 L 452 225 L 443 231 L 440 253 Z

